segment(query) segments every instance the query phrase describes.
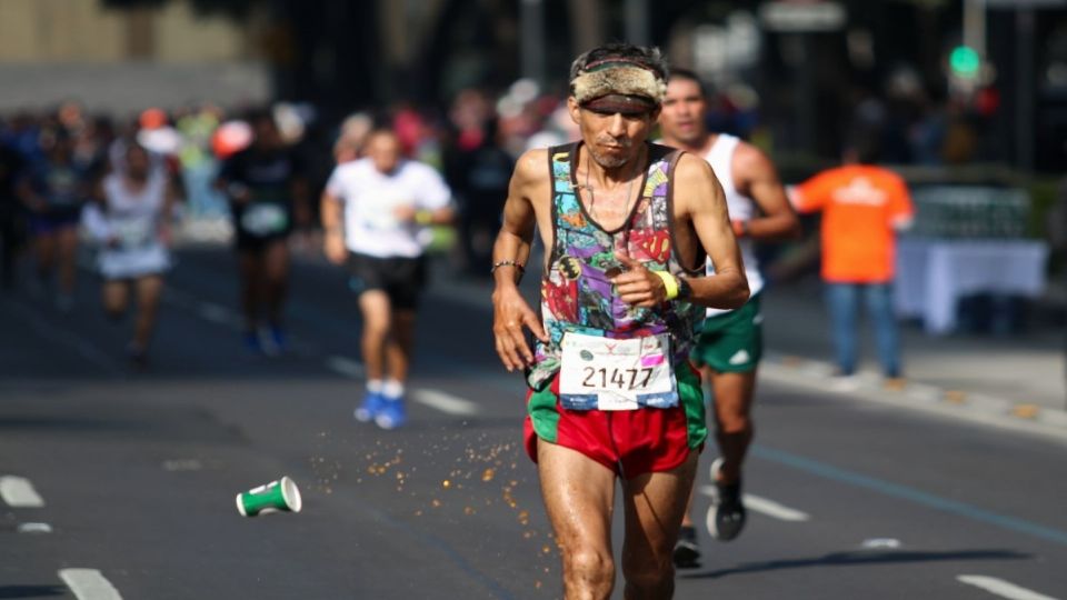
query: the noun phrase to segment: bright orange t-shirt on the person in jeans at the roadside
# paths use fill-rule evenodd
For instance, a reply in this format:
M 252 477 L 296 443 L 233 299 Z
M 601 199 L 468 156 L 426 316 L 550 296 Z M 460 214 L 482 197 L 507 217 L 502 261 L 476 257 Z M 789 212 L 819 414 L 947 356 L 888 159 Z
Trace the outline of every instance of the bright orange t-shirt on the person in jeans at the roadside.
M 915 212 L 899 176 L 867 164 L 838 167 L 798 186 L 794 204 L 800 212 L 822 211 L 824 280 L 893 280 L 894 223 Z

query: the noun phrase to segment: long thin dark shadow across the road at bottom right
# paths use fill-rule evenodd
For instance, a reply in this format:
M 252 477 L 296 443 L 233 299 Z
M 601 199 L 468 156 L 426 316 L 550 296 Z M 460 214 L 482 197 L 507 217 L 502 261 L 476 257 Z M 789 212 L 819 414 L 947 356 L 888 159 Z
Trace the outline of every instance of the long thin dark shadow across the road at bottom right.
M 1020 560 L 1030 554 L 1013 550 L 851 550 L 848 552 L 831 552 L 821 557 L 800 558 L 789 560 L 769 560 L 765 562 L 749 562 L 718 569 L 715 571 L 679 573 L 684 579 L 719 579 L 724 577 L 780 571 L 784 569 L 805 569 L 809 567 L 855 567 L 859 564 L 896 564 L 903 562 L 935 562 L 953 560 Z

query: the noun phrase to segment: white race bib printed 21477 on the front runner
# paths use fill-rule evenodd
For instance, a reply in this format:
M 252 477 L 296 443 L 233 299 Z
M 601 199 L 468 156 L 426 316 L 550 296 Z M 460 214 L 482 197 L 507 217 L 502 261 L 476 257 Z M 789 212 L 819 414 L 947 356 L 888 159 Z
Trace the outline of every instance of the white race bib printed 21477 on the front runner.
M 614 340 L 567 333 L 559 399 L 569 410 L 636 410 L 678 406 L 666 334 Z

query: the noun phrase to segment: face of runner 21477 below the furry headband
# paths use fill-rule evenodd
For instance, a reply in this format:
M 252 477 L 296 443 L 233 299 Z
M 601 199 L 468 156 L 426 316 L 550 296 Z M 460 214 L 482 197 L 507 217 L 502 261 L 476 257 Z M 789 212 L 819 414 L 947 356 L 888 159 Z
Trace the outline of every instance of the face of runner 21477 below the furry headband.
M 635 159 L 656 122 L 656 111 L 598 112 L 579 107 L 574 97 L 568 99 L 568 104 L 589 156 L 605 169 L 615 169 Z

